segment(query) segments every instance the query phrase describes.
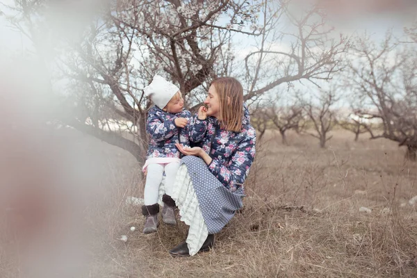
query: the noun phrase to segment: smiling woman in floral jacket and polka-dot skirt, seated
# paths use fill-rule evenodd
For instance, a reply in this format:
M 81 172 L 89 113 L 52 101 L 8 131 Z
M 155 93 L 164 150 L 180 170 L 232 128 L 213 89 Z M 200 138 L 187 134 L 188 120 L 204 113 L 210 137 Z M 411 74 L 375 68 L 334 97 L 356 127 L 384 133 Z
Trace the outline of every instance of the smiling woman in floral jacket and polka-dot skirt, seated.
M 185 242 L 170 254 L 193 256 L 214 246 L 218 233 L 243 206 L 243 183 L 255 155 L 255 131 L 243 106 L 243 88 L 234 78 L 216 79 L 190 122 L 190 142 L 174 184 L 172 199 L 190 226 Z

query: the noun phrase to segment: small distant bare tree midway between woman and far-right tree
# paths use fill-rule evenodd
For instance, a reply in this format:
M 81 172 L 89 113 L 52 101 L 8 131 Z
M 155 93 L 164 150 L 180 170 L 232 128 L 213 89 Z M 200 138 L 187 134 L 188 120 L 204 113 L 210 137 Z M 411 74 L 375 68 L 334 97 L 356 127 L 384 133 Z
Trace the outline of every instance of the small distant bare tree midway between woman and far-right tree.
M 320 147 L 326 147 L 326 142 L 332 139 L 329 132 L 332 131 L 336 125 L 336 111 L 333 106 L 338 102 L 338 97 L 334 90 L 320 91 L 320 96 L 309 99 L 300 97 L 302 107 L 313 124 L 313 133 L 307 132 L 309 135 L 320 140 Z

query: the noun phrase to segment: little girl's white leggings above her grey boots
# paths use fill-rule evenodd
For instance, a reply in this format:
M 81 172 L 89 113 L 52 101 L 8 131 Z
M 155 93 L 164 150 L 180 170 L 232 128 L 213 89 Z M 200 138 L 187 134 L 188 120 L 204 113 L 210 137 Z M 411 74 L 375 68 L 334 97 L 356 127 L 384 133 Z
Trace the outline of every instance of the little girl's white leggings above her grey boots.
M 159 185 L 162 182 L 163 172 L 165 171 L 165 194 L 172 195 L 175 176 L 177 175 L 179 162 L 167 164 L 152 163 L 147 166 L 147 176 L 145 183 L 144 201 L 145 206 L 150 206 L 158 202 Z

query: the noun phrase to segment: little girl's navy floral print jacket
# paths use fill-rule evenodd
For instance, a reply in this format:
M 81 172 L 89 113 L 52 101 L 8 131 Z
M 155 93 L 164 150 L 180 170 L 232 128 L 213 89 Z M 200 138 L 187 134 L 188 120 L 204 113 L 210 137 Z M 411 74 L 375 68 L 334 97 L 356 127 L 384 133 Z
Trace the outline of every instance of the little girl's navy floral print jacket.
M 177 117 L 185 117 L 190 121 L 190 111 L 181 111 L 177 114 L 171 114 L 163 111 L 158 106 L 154 106 L 149 111 L 147 117 L 146 130 L 149 135 L 149 147 L 147 159 L 156 157 L 173 157 L 180 158 L 181 153 L 175 147 L 175 143 L 181 145 L 190 145 L 189 125 L 179 128 L 175 125 Z

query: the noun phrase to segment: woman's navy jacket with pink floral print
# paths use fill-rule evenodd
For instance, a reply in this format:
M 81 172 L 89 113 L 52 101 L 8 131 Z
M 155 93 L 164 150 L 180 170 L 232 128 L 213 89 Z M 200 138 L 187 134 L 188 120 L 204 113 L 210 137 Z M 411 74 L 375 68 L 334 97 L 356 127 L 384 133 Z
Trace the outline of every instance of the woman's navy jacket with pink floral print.
M 195 115 L 190 123 L 190 142 L 199 143 L 213 159 L 208 170 L 231 192 L 240 188 L 242 193 L 243 183 L 254 161 L 256 142 L 249 110 L 244 106 L 243 111 L 240 132 L 220 129 L 215 117 L 199 120 Z

